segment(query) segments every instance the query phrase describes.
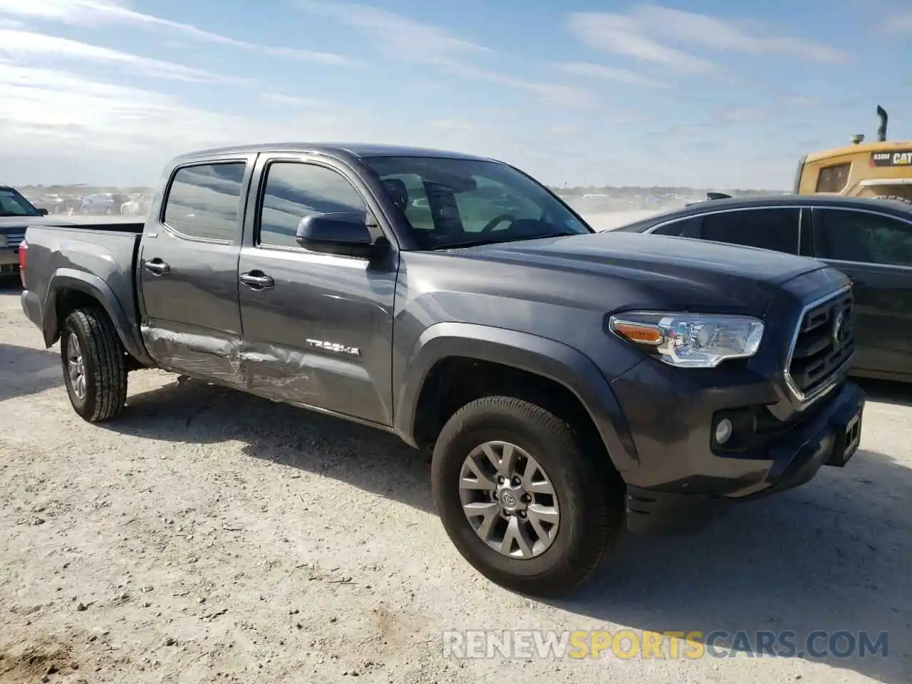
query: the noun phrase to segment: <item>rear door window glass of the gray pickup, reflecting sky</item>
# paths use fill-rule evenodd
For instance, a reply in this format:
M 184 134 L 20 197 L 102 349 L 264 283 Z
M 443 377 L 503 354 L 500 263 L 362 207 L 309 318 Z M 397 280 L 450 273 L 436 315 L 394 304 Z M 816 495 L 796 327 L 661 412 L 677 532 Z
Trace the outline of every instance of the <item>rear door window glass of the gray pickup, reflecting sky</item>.
M 171 179 L 162 223 L 180 237 L 220 243 L 240 234 L 238 212 L 246 161 L 183 166 Z

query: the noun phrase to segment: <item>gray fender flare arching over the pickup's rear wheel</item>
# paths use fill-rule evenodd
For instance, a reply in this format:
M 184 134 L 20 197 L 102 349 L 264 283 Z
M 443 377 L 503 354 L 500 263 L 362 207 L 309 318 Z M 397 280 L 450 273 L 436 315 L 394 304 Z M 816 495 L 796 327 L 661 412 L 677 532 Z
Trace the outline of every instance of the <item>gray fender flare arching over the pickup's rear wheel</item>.
M 108 314 L 114 328 L 117 330 L 120 342 L 141 363 L 154 366 L 155 362 L 146 352 L 140 338 L 139 327 L 127 316 L 117 295 L 104 280 L 98 275 L 73 268 L 59 268 L 51 275 L 47 282 L 47 295 L 42 306 L 42 328 L 44 330 L 45 345 L 50 347 L 60 336 L 61 321 L 57 320 L 57 295 L 63 290 L 78 290 L 95 299 Z

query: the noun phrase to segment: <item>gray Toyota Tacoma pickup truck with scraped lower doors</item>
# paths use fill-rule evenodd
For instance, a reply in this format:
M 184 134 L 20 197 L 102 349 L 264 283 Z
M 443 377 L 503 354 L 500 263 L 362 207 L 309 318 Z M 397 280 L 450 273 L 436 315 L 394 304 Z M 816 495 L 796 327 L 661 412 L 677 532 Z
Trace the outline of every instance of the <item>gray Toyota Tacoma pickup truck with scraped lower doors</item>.
M 689 532 L 860 439 L 845 275 L 596 233 L 500 161 L 206 150 L 146 223 L 32 226 L 24 248 L 22 306 L 84 419 L 165 368 L 388 430 L 432 449 L 461 554 L 529 595 L 583 581 L 625 526 Z

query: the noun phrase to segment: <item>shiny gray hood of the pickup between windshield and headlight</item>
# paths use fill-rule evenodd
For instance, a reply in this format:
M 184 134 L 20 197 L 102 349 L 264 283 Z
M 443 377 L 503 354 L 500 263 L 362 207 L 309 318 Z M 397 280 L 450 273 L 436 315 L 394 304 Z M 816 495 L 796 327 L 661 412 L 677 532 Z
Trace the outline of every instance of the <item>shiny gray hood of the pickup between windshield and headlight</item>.
M 641 233 L 587 233 L 479 245 L 451 253 L 504 266 L 537 266 L 554 275 L 534 276 L 534 288 L 554 297 L 573 297 L 581 304 L 607 303 L 609 309 L 665 306 L 753 316 L 762 316 L 772 295 L 786 282 L 827 267 L 791 254 Z M 592 275 L 604 283 L 597 292 L 590 291 L 591 277 L 586 276 Z M 570 288 L 575 289 L 567 291 Z

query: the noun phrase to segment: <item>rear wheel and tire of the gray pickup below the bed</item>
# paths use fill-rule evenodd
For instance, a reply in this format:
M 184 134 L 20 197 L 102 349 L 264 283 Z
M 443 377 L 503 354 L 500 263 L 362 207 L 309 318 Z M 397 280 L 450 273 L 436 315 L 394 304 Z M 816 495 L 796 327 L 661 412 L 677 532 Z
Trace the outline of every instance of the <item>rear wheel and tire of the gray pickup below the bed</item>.
M 77 309 L 64 322 L 60 362 L 67 395 L 84 420 L 115 418 L 127 402 L 126 352 L 100 307 Z

